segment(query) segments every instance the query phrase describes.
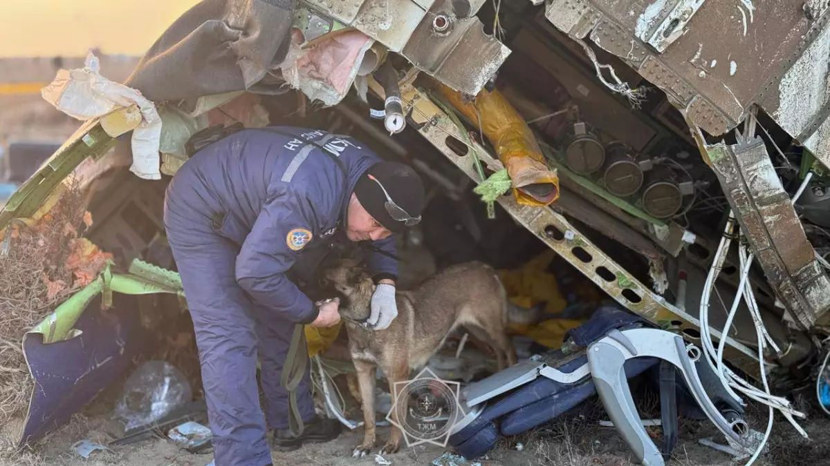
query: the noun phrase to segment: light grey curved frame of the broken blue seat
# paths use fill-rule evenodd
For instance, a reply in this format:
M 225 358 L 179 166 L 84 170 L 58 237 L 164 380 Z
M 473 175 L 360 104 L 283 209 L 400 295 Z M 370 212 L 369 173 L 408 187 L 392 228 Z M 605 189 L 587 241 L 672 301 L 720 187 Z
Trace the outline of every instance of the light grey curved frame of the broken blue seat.
M 588 362 L 573 372 L 564 373 L 541 361 L 525 361 L 466 386 L 461 391 L 461 399 L 466 403 L 467 415 L 454 427 L 453 432 L 460 431 L 475 420 L 483 411 L 487 400 L 534 381 L 539 376 L 572 384 L 590 374 L 608 417 L 632 449 L 637 461 L 646 466 L 663 466 L 665 463 L 662 454 L 643 428 L 640 415 L 637 414 L 624 367 L 625 362 L 634 357 L 656 357 L 676 366 L 698 405 L 722 434 L 737 444 L 745 444 L 743 437 L 731 428 L 730 420 L 725 419 L 707 395 L 697 374 L 696 362 L 689 356 L 690 351 L 701 354 L 695 350 L 696 347 L 690 345 L 687 348 L 681 337 L 665 330 L 612 330 L 606 337 L 588 346 Z M 735 401 L 743 404 L 742 400 Z

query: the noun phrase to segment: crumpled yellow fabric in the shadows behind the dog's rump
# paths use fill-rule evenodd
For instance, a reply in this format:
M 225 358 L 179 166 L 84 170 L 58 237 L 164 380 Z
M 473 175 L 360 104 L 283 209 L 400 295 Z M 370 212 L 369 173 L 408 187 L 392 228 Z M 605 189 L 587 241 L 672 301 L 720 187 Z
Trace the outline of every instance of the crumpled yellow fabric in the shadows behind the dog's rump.
M 546 270 L 555 257 L 556 252 L 546 250 L 519 269 L 499 272 L 511 303 L 521 308 L 532 308 L 537 303 L 547 301 L 544 310 L 548 313 L 560 313 L 568 306 L 568 301 L 559 293 L 556 277 Z M 581 320 L 554 318 L 535 325 L 510 323 L 509 328 L 512 333 L 531 337 L 546 347 L 556 348 L 562 346 L 565 332 L 582 323 Z

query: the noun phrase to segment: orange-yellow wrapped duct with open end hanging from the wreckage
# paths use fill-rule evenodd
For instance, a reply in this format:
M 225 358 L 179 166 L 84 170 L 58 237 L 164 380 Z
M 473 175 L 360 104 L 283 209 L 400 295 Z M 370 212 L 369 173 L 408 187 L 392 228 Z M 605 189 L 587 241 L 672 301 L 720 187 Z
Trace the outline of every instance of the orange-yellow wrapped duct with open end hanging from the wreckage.
M 474 102 L 466 102 L 457 90 L 440 85 L 441 95 L 481 130 L 496 148 L 513 181 L 513 197 L 525 206 L 548 206 L 559 198 L 559 176 L 548 167 L 544 155 L 525 119 L 498 90 L 481 90 Z M 551 183 L 554 195 L 540 200 L 519 190 L 533 184 Z

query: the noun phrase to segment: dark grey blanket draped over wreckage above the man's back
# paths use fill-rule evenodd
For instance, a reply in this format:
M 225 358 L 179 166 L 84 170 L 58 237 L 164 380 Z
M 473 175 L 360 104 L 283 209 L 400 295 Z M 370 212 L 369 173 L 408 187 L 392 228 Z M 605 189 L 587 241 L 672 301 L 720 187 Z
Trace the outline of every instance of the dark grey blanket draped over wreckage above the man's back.
M 125 81 L 149 100 L 237 90 L 277 93 L 269 70 L 286 57 L 295 0 L 203 0 L 159 37 Z

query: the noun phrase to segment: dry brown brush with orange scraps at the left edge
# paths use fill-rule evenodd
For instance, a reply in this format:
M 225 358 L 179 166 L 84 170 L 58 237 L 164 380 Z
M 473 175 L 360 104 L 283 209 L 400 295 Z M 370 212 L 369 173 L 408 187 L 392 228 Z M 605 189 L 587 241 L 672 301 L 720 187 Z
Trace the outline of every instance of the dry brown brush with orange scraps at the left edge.
M 104 264 L 106 256 L 90 256 L 80 240 L 90 223 L 85 214 L 81 192 L 71 185 L 34 226 L 12 225 L 8 255 L 0 256 L 0 425 L 25 410 L 31 396 L 23 335 Z

